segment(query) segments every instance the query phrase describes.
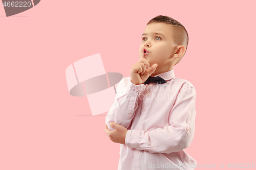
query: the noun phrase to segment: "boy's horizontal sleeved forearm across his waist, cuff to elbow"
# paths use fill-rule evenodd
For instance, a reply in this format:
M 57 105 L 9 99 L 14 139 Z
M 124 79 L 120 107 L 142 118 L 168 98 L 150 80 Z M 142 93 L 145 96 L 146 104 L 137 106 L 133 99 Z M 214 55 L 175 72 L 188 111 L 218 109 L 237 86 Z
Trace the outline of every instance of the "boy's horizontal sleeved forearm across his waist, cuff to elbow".
M 157 128 L 153 131 L 128 130 L 125 144 L 130 149 L 150 153 L 179 152 L 187 148 L 194 138 L 194 131 L 185 128 L 176 130 L 172 126 Z

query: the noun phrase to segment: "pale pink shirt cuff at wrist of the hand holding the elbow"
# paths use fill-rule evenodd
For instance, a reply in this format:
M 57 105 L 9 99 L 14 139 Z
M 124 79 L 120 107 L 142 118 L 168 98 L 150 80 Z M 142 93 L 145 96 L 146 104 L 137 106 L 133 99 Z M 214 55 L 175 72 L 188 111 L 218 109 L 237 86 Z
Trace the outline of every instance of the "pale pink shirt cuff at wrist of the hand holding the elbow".
M 124 140 L 126 146 L 130 149 L 140 150 L 138 143 L 139 135 L 140 130 L 128 130 Z

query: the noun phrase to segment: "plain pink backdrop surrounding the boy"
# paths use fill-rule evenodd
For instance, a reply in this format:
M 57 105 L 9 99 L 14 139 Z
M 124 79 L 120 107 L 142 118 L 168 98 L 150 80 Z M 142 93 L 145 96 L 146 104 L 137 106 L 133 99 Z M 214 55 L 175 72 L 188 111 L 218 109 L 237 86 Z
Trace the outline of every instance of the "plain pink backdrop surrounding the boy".
M 174 67 L 197 90 L 195 138 L 185 151 L 201 166 L 256 163 L 255 5 L 42 0 L 10 17 L 1 5 L 0 169 L 117 169 L 119 144 L 104 132 L 106 113 L 92 116 L 87 97 L 69 94 L 65 70 L 100 53 L 106 72 L 129 77 L 141 34 L 157 15 L 189 34 Z

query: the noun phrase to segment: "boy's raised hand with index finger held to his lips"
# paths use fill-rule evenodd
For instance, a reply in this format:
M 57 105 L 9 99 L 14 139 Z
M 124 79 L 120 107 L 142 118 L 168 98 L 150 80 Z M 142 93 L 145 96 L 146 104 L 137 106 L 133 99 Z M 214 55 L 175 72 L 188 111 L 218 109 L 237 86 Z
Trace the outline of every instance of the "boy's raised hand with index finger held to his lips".
M 140 46 L 139 55 L 140 60 L 131 69 L 131 82 L 136 85 L 143 84 L 157 68 L 156 63 L 150 67 L 150 63 L 145 59 L 144 45 Z

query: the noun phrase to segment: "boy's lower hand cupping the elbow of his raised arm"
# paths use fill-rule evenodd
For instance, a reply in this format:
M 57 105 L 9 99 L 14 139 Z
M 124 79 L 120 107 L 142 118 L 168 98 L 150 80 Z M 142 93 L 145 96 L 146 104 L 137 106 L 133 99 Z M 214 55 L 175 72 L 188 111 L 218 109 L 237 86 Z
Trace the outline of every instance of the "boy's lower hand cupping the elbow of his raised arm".
M 111 122 L 110 126 L 115 130 L 109 130 L 108 126 L 106 126 L 105 124 L 105 132 L 109 136 L 110 140 L 112 140 L 115 143 L 125 144 L 125 136 L 128 130 L 114 122 Z

